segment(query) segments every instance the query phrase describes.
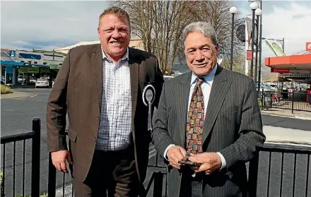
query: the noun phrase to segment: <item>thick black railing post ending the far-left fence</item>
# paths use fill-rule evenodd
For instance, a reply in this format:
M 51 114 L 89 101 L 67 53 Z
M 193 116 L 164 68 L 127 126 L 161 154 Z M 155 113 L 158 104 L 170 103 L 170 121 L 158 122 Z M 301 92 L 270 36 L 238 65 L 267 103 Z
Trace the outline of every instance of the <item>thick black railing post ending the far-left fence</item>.
M 32 147 L 32 169 L 31 169 L 31 196 L 40 196 L 40 118 L 33 119 L 33 147 Z

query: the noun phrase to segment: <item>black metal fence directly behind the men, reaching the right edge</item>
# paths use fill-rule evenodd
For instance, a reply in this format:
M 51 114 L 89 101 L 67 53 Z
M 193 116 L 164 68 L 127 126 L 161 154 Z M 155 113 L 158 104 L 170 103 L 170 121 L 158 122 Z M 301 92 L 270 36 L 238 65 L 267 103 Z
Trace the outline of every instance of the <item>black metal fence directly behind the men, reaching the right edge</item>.
M 310 196 L 310 154 L 310 146 L 265 143 L 259 149 L 259 155 L 247 163 L 249 196 Z M 151 176 L 145 181 L 144 196 L 166 196 L 167 171 L 160 155 L 149 159 L 148 171 Z M 49 183 L 53 186 L 49 187 L 48 195 L 54 197 L 54 167 L 49 171 L 49 177 L 52 177 Z

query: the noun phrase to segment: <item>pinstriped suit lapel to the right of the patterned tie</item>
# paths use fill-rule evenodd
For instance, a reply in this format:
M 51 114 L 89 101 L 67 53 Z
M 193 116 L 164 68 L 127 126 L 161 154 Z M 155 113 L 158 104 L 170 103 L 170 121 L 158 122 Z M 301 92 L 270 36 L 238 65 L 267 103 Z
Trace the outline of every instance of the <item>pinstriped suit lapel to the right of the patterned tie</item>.
M 221 106 L 223 105 L 225 95 L 227 95 L 231 83 L 232 80 L 228 79 L 225 71 L 223 71 L 223 68 L 221 68 L 221 66 L 218 66 L 215 77 L 213 79 L 211 94 L 209 96 L 209 104 L 206 109 L 202 136 L 203 142 L 206 140 L 207 136 L 209 136 L 209 133 L 211 132 L 213 124 L 216 120 L 219 110 L 221 109 Z

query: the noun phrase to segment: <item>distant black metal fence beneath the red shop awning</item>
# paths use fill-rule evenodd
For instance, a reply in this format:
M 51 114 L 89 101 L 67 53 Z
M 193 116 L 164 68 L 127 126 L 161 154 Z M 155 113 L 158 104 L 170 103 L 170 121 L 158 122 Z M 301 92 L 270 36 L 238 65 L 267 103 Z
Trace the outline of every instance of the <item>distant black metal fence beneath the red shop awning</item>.
M 262 93 L 263 92 L 263 93 Z M 307 92 L 268 92 L 262 90 L 263 109 L 278 108 L 311 112 L 311 94 Z

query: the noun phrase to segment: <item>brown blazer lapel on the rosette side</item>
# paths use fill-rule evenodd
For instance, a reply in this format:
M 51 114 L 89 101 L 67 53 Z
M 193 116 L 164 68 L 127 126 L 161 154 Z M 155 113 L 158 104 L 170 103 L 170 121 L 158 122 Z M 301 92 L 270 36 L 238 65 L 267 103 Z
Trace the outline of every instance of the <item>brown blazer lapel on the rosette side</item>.
M 131 77 L 131 122 L 132 131 L 134 131 L 134 117 L 137 105 L 137 94 L 139 89 L 139 64 L 136 57 L 132 54 L 129 48 L 129 73 Z M 135 133 L 133 132 L 133 140 L 135 141 Z

